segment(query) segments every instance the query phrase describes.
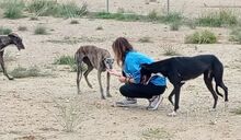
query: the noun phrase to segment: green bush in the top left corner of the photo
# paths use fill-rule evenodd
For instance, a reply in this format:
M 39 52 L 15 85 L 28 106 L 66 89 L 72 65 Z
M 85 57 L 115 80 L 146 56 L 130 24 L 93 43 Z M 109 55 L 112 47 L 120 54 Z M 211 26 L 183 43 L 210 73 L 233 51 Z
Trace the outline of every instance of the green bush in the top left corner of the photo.
M 1 8 L 4 9 L 4 18 L 20 19 L 23 18 L 25 4 L 22 0 L 7 0 L 1 3 Z

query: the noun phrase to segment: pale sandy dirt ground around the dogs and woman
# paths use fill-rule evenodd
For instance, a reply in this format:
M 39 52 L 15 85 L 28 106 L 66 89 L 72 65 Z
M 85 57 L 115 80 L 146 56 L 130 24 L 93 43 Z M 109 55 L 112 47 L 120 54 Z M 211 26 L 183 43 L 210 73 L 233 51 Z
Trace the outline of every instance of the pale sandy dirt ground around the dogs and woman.
M 88 2 L 93 10 L 105 8 L 104 2 Z M 190 3 L 187 11 L 195 13 L 195 8 L 203 9 L 205 2 L 213 5 L 240 3 L 239 0 L 185 0 L 173 2 L 172 7 L 182 9 L 183 3 Z M 140 13 L 165 4 L 145 4 L 144 0 L 141 3 L 138 0 L 113 0 L 112 4 L 114 3 L 115 10 L 117 5 L 122 5 Z M 39 18 L 38 21 L 31 21 L 28 18 L 0 19 L 0 25 L 8 26 L 22 36 L 26 47 L 21 51 L 14 46 L 5 49 L 14 59 L 7 62 L 8 70 L 11 71 L 18 66 L 37 66 L 42 71 L 50 71 L 54 74 L 9 81 L 0 73 L 1 140 L 241 140 L 241 116 L 232 113 L 241 107 L 241 46 L 228 42 L 228 28 L 209 28 L 218 35 L 218 44 L 186 45 L 183 43 L 184 36 L 194 30 L 185 26 L 173 32 L 164 24 L 77 20 L 79 24 L 70 24 L 71 20 L 54 18 Z M 48 35 L 34 35 L 34 28 L 39 24 L 47 27 Z M 20 32 L 19 26 L 27 26 L 27 31 Z M 99 26 L 103 30 L 97 31 Z M 111 79 L 113 97 L 101 100 L 95 70 L 89 77 L 93 89 L 89 89 L 82 80 L 82 94 L 77 95 L 76 73 L 70 72 L 67 66 L 53 65 L 54 60 L 62 55 L 73 55 L 79 46 L 89 44 L 106 48 L 113 54 L 111 45 L 119 36 L 127 37 L 137 50 L 156 60 L 170 57 L 163 55 L 168 47 L 174 48 L 182 56 L 216 55 L 225 66 L 223 81 L 229 88 L 229 106 L 225 107 L 223 98 L 219 98 L 217 110 L 211 110 L 214 101 L 203 77 L 188 81 L 182 88 L 176 117 L 167 116 L 173 109 L 167 98 L 172 91 L 170 83 L 163 103 L 157 112 L 146 110 L 146 100 L 138 100 L 137 107 L 113 106 L 116 101 L 123 100 L 118 93 L 120 83 L 114 77 Z M 150 37 L 151 43 L 139 43 L 141 37 Z M 78 43 L 69 44 L 67 38 L 77 39 Z M 119 68 L 115 66 L 115 69 Z M 74 120 L 69 120 L 71 117 Z M 72 128 L 73 132 L 67 132 L 65 124 L 71 122 L 72 127 L 69 128 Z

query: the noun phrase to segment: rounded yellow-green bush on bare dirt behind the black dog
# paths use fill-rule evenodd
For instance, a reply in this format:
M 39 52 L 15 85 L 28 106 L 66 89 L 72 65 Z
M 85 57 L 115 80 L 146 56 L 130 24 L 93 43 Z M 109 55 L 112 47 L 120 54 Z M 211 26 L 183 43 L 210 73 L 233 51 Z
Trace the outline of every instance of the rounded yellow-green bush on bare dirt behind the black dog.
M 217 37 L 215 34 L 208 30 L 195 32 L 192 35 L 185 37 L 186 44 L 215 44 L 217 43 Z

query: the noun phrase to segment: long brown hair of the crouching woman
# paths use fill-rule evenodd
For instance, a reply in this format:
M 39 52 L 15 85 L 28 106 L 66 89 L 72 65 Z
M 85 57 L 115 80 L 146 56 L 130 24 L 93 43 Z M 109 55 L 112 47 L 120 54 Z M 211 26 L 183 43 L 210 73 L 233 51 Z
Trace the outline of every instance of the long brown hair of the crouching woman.
M 115 54 L 117 65 L 120 66 L 125 61 L 127 51 L 134 50 L 133 46 L 125 37 L 118 37 L 112 45 L 112 49 Z

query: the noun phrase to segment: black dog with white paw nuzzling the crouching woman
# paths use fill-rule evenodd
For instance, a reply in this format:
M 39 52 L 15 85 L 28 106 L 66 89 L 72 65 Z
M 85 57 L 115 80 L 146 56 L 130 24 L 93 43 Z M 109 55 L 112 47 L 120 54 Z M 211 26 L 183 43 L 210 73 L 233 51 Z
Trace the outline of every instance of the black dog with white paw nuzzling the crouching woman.
M 157 61 L 150 65 L 141 65 L 141 83 L 147 83 L 151 73 L 161 73 L 167 77 L 173 84 L 174 89 L 169 95 L 169 101 L 172 102 L 172 96 L 175 95 L 174 112 L 179 109 L 180 90 L 184 81 L 195 79 L 204 73 L 204 81 L 207 89 L 214 96 L 214 107 L 216 108 L 219 93 L 218 86 L 225 91 L 225 102 L 228 102 L 228 88 L 222 82 L 223 66 L 214 55 L 199 55 L 195 57 L 173 57 L 165 60 Z M 213 79 L 216 82 L 216 92 L 213 88 Z

